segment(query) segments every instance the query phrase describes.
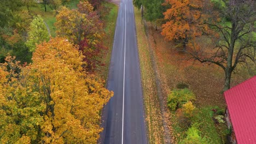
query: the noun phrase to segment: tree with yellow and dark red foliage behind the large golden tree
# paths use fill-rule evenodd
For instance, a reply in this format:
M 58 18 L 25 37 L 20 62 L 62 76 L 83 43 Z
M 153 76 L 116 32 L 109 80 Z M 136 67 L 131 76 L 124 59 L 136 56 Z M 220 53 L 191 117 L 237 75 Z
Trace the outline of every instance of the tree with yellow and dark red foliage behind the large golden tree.
M 101 57 L 106 49 L 102 43 L 103 23 L 88 1 L 80 2 L 78 10 L 63 7 L 56 16 L 56 33 L 67 37 L 83 51 L 86 69 L 94 71 L 101 65 Z

